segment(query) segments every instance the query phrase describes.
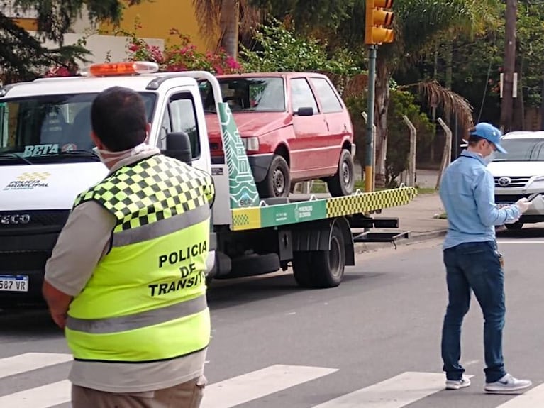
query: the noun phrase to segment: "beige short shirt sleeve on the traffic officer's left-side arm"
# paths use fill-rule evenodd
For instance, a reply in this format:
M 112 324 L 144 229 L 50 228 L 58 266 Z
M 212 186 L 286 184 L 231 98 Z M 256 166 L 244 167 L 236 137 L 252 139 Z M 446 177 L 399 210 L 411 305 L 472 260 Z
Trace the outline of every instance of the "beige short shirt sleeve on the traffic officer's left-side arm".
M 79 294 L 109 250 L 115 224 L 115 217 L 96 202 L 77 206 L 45 265 L 45 280 L 65 294 Z

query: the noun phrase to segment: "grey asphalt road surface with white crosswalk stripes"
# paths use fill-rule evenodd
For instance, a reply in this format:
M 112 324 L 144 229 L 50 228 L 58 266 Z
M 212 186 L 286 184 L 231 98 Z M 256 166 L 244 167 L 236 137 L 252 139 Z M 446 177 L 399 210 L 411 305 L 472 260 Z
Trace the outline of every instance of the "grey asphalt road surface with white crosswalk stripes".
M 331 290 L 301 290 L 285 272 L 214 282 L 202 407 L 544 407 L 544 227 L 501 232 L 499 241 L 506 261 L 506 368 L 533 380 L 526 395 L 484 394 L 475 302 L 462 355 L 472 385 L 443 390 L 445 272 L 441 242 L 428 241 L 358 255 L 357 267 Z M 0 407 L 70 407 L 62 403 L 69 390 L 65 353 L 47 314 L 0 314 Z

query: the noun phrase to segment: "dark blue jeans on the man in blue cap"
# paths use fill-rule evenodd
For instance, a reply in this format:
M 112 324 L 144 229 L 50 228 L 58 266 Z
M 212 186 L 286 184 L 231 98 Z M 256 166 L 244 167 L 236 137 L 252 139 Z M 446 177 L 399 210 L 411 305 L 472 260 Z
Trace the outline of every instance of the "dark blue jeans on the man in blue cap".
M 504 272 L 494 241 L 462 243 L 444 250 L 448 309 L 442 329 L 443 370 L 448 380 L 460 380 L 461 325 L 470 307 L 470 290 L 484 314 L 484 370 L 486 382 L 506 374 L 502 356 L 504 327 Z

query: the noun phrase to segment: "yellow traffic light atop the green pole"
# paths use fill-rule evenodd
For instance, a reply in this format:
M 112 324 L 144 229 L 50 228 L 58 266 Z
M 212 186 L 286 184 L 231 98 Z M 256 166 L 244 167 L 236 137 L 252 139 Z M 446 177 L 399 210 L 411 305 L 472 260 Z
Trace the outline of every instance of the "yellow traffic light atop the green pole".
M 392 43 L 394 31 L 386 28 L 393 23 L 393 0 L 366 0 L 365 44 Z

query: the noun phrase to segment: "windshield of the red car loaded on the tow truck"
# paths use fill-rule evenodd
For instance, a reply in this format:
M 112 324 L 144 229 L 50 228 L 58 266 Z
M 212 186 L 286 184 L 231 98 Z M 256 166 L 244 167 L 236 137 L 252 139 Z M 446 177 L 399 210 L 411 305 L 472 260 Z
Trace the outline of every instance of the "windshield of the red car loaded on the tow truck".
M 218 78 L 223 102 L 234 112 L 283 112 L 285 108 L 284 81 L 281 77 Z M 215 112 L 211 86 L 199 83 L 204 111 Z

